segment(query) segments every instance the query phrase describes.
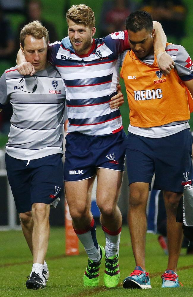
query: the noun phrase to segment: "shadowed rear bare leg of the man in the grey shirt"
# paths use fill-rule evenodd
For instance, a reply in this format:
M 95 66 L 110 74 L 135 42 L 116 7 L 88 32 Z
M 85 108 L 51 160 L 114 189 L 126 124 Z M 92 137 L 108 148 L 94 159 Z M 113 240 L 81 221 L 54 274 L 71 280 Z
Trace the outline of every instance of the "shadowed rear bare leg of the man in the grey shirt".
M 34 227 L 34 221 L 33 221 L 31 211 L 20 213 L 19 216 L 20 216 L 23 235 L 26 238 L 31 254 L 33 255 L 32 232 Z

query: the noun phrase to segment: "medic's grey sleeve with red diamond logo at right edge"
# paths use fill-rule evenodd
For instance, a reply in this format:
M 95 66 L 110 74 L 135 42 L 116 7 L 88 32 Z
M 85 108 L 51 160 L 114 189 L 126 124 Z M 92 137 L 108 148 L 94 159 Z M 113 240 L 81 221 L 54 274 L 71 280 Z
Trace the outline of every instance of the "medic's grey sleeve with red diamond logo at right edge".
M 191 80 L 193 79 L 193 66 L 192 60 L 183 46 L 179 46 L 176 50 L 175 69 L 181 80 Z

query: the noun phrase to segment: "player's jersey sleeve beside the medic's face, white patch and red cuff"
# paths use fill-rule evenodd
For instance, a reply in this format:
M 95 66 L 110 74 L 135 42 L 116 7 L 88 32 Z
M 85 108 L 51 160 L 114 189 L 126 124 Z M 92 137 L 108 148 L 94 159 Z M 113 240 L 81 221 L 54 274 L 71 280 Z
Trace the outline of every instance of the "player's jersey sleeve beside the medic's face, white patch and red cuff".
M 109 34 L 104 38 L 104 42 L 117 55 L 129 49 L 128 33 L 126 30 Z

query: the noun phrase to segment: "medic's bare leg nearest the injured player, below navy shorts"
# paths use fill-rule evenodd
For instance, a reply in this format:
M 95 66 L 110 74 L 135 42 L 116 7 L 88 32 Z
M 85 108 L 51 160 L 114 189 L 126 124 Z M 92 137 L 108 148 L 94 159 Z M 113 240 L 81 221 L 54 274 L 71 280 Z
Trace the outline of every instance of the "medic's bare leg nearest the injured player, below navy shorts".
M 145 270 L 145 238 L 147 231 L 146 206 L 148 183 L 130 184 L 128 223 L 136 266 Z

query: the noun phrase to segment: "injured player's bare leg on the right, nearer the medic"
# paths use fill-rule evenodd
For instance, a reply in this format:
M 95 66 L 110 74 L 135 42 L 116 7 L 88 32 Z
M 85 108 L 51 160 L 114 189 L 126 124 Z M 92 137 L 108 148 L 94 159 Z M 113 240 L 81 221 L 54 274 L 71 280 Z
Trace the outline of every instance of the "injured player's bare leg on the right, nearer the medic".
M 97 169 L 97 205 L 101 212 L 101 224 L 110 231 L 122 225 L 122 216 L 117 206 L 123 172 L 106 168 Z

